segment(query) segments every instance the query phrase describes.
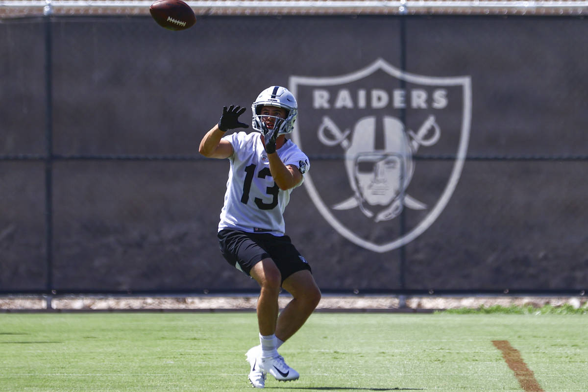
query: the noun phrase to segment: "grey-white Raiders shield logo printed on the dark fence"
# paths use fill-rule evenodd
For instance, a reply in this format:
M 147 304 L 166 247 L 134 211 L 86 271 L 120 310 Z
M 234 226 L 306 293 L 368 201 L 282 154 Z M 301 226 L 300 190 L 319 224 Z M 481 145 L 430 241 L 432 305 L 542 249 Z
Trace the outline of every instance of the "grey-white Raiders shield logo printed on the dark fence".
M 373 252 L 425 232 L 449 202 L 467 152 L 469 76 L 400 71 L 383 59 L 342 76 L 290 76 L 304 185 L 333 228 Z M 400 219 L 402 217 L 402 219 Z

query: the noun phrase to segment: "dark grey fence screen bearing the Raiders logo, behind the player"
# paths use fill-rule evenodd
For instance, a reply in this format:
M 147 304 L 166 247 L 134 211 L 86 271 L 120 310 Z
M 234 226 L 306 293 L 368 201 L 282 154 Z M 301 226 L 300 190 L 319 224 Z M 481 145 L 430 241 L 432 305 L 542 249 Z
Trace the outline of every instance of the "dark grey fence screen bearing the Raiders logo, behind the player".
M 223 105 L 299 101 L 286 231 L 328 291 L 588 286 L 582 18 L 0 23 L 0 292 L 222 292 Z M 371 196 L 370 196 L 371 195 Z

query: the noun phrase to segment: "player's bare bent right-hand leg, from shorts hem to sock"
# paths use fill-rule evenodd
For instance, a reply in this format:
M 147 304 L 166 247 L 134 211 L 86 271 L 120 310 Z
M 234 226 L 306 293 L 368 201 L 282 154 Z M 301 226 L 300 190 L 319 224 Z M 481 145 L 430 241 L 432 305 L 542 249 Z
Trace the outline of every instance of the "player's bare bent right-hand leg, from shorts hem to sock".
M 282 283 L 292 300 L 278 317 L 276 337 L 282 341 L 290 339 L 308 320 L 320 301 L 320 289 L 309 270 L 293 273 Z

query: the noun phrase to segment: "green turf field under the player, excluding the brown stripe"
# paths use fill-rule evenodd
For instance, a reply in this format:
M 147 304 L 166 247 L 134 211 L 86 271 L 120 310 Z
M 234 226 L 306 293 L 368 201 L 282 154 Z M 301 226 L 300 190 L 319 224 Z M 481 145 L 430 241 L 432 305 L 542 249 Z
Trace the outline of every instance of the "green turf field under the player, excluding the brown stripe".
M 0 391 L 244 391 L 255 313 L 0 314 Z M 286 391 L 588 390 L 588 316 L 315 313 Z M 507 340 L 533 372 L 523 388 Z

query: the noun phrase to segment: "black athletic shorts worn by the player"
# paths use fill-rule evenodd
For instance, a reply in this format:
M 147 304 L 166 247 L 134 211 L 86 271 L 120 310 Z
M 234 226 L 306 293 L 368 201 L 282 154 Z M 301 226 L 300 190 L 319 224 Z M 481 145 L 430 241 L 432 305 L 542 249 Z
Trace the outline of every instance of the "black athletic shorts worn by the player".
M 268 257 L 276 263 L 282 282 L 298 271 L 309 270 L 312 273 L 308 262 L 288 236 L 223 229 L 218 232 L 218 238 L 220 253 L 226 261 L 247 276 L 250 276 L 249 272 L 255 264 Z

